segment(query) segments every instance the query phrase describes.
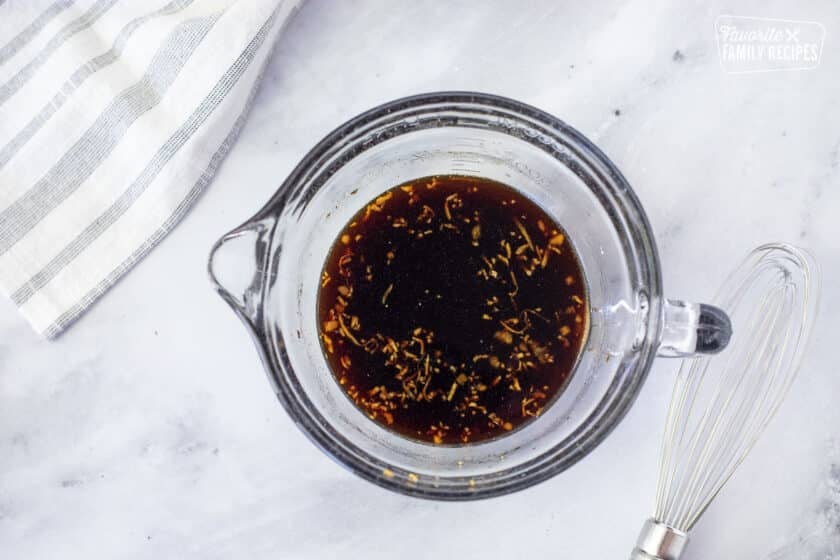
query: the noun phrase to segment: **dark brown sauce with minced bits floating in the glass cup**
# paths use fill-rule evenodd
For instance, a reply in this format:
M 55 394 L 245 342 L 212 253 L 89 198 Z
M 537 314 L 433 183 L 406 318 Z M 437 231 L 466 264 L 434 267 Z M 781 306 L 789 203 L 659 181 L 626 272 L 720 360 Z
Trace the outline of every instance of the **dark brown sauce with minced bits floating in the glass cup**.
M 586 338 L 566 233 L 516 190 L 437 176 L 371 201 L 321 276 L 321 344 L 374 421 L 432 443 L 492 438 L 539 416 Z

